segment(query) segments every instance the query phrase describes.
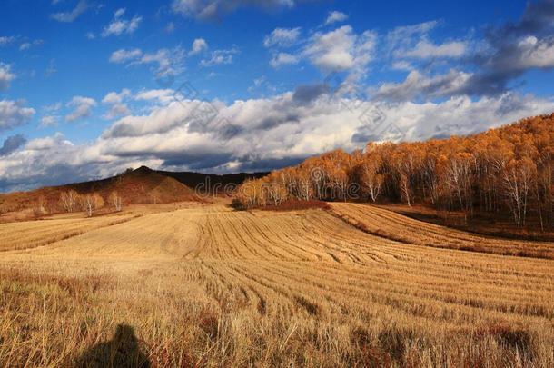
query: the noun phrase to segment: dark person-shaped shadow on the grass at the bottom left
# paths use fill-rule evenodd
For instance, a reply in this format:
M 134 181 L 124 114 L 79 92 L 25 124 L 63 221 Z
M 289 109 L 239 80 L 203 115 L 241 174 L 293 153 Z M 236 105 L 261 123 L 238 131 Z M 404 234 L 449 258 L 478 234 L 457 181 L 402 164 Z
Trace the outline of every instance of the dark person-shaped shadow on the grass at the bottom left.
M 150 362 L 141 351 L 134 329 L 120 324 L 112 340 L 98 343 L 81 355 L 75 368 L 149 368 Z

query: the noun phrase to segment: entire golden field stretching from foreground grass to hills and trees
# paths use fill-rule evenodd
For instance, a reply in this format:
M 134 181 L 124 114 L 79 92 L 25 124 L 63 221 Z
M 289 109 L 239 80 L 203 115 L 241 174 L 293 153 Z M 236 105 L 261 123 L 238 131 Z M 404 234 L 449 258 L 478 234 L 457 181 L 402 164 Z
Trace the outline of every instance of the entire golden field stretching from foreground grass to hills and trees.
M 554 244 L 362 204 L 138 214 L 0 227 L 0 366 L 554 365 Z

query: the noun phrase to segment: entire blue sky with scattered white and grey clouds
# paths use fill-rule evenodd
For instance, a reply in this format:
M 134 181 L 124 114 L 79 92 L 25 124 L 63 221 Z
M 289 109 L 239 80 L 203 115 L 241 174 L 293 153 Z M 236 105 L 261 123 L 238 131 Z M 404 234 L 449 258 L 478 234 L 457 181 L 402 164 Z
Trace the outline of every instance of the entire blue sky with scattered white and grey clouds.
M 3 0 L 0 192 L 478 133 L 552 81 L 554 0 Z

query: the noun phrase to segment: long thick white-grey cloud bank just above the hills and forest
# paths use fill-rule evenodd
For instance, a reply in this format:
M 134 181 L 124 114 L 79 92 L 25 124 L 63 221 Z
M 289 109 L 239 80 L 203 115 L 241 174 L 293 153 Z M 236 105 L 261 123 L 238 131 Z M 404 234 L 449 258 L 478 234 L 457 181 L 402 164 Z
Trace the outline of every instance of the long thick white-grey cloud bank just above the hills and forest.
M 376 103 L 329 94 L 309 104 L 299 104 L 291 92 L 232 104 L 214 101 L 217 116 L 203 121 L 191 119 L 199 103 L 172 102 L 125 116 L 90 144 L 71 144 L 61 134 L 33 140 L 0 160 L 0 189 L 107 176 L 129 163 L 210 172 L 266 170 L 333 148 L 361 148 L 368 140 L 470 134 L 554 110 L 550 99 L 519 94 L 381 103 L 384 124 L 375 126 L 361 116 Z

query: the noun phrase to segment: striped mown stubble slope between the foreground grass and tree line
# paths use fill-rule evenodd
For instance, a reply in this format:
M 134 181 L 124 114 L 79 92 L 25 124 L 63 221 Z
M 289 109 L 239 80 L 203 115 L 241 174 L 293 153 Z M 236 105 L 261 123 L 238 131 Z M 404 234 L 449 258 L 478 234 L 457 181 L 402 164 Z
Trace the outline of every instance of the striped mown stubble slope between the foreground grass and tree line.
M 352 205 L 353 210 L 341 204 L 341 211 L 357 218 L 372 211 Z M 396 229 L 395 218 L 383 214 L 379 225 Z M 430 236 L 425 227 L 421 232 L 420 238 Z M 539 326 L 554 316 L 552 261 L 403 244 L 322 210 L 246 213 L 214 207 L 148 214 L 6 255 L 1 262 L 162 260 L 169 270 L 185 270 L 183 282 L 203 288 L 214 305 L 249 308 L 268 318 L 291 319 L 304 311 L 309 318 L 387 316 L 406 326 L 456 329 L 483 319 Z

